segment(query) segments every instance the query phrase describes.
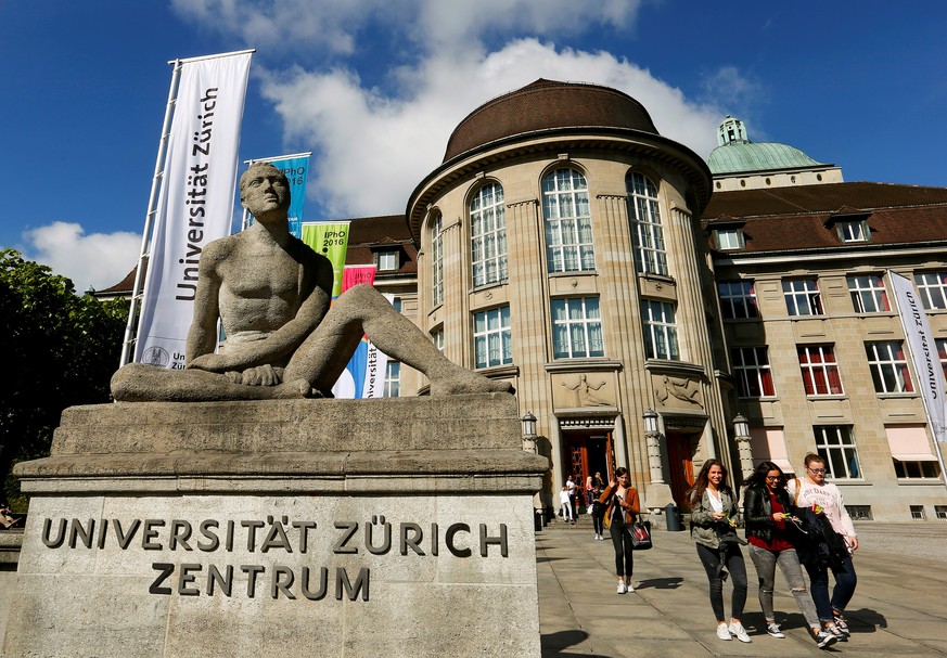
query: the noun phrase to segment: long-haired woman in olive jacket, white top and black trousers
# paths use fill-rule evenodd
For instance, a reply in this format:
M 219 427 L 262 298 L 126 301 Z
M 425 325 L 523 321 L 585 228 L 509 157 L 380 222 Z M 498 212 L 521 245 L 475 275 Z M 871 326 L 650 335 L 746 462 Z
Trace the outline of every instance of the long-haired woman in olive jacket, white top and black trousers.
M 733 528 L 737 527 L 737 495 L 727 483 L 727 468 L 717 460 L 707 460 L 688 491 L 691 504 L 691 539 L 698 546 L 698 557 L 711 583 L 711 608 L 717 618 L 717 637 L 752 642 L 743 623 L 746 604 L 746 564 Z M 734 541 L 727 541 L 730 538 Z M 742 540 L 740 540 L 742 541 Z M 730 597 L 730 624 L 724 617 L 724 579 L 730 573 L 733 594 Z

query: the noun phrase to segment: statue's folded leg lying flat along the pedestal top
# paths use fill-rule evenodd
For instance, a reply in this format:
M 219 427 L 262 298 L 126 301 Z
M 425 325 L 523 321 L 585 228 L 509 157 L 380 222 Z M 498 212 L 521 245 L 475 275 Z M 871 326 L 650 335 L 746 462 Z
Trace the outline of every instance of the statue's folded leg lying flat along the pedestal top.
M 129 363 L 112 376 L 112 397 L 119 402 L 217 402 L 307 398 L 308 382 L 278 386 L 234 384 L 227 375 L 203 370 L 167 370 Z

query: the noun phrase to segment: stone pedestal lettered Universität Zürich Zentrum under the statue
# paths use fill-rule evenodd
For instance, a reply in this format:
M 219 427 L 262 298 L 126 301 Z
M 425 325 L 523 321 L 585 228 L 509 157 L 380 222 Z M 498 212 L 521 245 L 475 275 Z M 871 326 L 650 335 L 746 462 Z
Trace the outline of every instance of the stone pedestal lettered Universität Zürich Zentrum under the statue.
M 63 414 L 4 656 L 536 656 L 533 494 L 503 393 Z

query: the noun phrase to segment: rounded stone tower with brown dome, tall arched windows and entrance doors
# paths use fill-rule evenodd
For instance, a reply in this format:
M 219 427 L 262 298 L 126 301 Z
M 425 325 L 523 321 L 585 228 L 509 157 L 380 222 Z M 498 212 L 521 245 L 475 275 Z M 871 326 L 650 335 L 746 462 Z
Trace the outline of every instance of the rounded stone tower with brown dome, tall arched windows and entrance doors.
M 695 462 L 729 462 L 709 195 L 704 162 L 638 101 L 545 79 L 468 115 L 411 194 L 420 323 L 516 387 L 552 461 L 547 506 L 616 466 L 648 506 L 683 504 Z

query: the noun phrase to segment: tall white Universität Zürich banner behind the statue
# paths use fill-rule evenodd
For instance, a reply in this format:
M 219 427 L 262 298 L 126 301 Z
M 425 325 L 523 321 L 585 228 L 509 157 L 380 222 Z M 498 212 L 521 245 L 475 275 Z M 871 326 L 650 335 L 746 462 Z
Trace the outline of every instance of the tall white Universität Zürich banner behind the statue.
M 155 209 L 136 361 L 184 367 L 197 265 L 230 234 L 253 52 L 183 60 Z

